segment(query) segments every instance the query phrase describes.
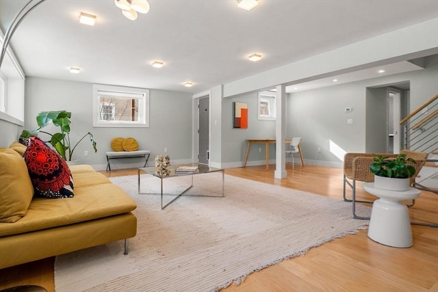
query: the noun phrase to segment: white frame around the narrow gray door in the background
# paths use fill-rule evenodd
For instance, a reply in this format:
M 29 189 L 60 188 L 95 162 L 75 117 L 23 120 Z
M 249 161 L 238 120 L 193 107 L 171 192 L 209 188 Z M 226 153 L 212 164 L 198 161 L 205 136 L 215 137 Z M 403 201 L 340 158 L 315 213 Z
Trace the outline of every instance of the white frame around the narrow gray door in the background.
M 199 113 L 198 113 L 198 101 L 200 98 L 208 98 L 209 103 L 209 137 L 208 137 L 208 144 L 209 149 L 211 146 L 211 91 L 207 90 L 205 92 L 199 92 L 197 94 L 193 94 L 192 96 L 192 162 L 198 163 L 198 154 L 199 154 L 199 135 L 198 135 L 198 129 L 199 129 Z M 210 153 L 211 157 L 211 153 Z M 210 165 L 210 159 L 208 161 Z

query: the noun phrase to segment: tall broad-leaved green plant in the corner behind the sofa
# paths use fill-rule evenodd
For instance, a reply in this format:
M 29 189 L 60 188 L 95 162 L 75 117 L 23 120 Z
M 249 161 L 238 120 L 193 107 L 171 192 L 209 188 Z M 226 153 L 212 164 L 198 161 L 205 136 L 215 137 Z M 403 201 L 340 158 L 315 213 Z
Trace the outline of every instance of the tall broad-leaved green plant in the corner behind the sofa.
M 65 160 L 71 160 L 73 157 L 73 151 L 75 151 L 76 146 L 85 138 L 90 137 L 90 142 L 94 148 L 94 152 L 97 152 L 96 142 L 92 133 L 88 132 L 76 144 L 70 143 L 70 111 L 41 111 L 38 116 L 36 116 L 36 122 L 38 124 L 38 129 L 34 131 L 23 131 L 21 137 L 29 137 L 31 135 L 38 135 L 38 133 L 45 133 L 51 136 L 51 140 L 48 141 L 53 148 L 61 155 Z M 60 132 L 58 133 L 47 133 L 41 131 L 42 128 L 46 127 L 48 124 L 53 123 L 55 126 L 60 127 Z

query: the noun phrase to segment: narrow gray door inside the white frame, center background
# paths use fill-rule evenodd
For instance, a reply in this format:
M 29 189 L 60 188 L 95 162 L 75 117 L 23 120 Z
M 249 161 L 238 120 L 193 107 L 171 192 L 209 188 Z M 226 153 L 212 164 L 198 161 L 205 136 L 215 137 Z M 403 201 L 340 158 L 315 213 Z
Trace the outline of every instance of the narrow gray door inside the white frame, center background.
M 209 96 L 198 99 L 198 163 L 209 164 Z

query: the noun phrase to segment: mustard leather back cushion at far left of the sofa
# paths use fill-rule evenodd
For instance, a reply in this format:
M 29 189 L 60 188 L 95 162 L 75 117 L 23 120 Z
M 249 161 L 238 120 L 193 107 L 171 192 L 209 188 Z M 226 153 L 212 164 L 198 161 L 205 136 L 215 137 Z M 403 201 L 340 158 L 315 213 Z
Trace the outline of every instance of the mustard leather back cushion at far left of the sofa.
M 18 152 L 0 149 L 0 222 L 21 219 L 34 196 L 26 163 Z

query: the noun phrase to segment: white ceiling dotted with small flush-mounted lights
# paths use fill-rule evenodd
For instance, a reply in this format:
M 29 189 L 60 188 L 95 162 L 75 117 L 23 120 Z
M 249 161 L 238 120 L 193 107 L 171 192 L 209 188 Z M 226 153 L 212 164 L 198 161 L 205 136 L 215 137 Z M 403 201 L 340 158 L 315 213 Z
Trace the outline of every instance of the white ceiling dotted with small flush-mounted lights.
M 3 31 L 25 3 L 0 0 Z M 129 21 L 114 0 L 47 0 L 10 44 L 27 76 L 194 93 L 438 17 L 437 0 L 259 0 L 250 11 L 236 0 L 149 3 Z M 79 24 L 80 12 L 96 15 L 96 25 Z M 248 61 L 252 53 L 263 59 Z M 408 70 L 402 63 L 386 74 Z M 376 77 L 374 69 L 350 80 Z

